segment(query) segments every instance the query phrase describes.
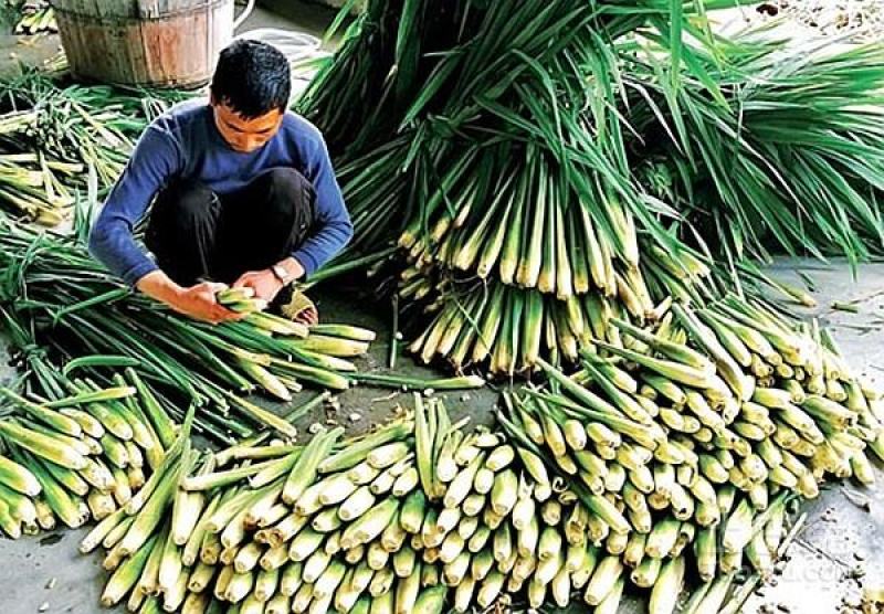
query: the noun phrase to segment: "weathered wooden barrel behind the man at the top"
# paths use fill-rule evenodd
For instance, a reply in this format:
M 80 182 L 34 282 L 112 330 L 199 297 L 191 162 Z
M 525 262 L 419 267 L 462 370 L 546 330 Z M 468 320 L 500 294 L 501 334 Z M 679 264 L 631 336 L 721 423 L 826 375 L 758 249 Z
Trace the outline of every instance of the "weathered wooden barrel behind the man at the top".
M 88 81 L 196 87 L 233 35 L 233 0 L 51 0 L 71 72 Z

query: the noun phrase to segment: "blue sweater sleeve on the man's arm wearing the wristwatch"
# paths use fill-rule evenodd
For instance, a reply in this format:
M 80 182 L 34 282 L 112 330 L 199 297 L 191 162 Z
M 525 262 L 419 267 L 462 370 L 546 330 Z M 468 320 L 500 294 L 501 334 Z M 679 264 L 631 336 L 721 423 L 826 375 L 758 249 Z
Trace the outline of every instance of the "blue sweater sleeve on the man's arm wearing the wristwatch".
M 313 137 L 305 151 L 307 179 L 316 190 L 316 226 L 292 256 L 307 275 L 332 260 L 352 237 L 352 222 L 344 205 L 332 159 L 322 134 L 312 127 Z

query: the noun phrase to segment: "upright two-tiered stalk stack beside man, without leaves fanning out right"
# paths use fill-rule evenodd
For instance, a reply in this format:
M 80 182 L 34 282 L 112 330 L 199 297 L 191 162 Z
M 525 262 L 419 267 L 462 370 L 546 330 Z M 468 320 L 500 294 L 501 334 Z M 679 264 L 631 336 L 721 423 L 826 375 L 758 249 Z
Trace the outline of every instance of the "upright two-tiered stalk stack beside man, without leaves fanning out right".
M 446 11 L 393 4 L 369 7 L 364 31 L 377 25 L 380 35 L 345 43 L 302 108 L 334 149 L 340 126 L 322 110 L 328 98 L 372 88 L 334 84 L 354 71 L 390 73 L 382 87 L 358 92 L 377 106 L 362 105 L 367 117 L 354 118 L 362 128 L 346 141 L 351 161 L 340 177 L 361 245 L 389 239 L 391 222 L 408 212 L 399 244 L 411 265 L 401 296 L 434 314 L 413 349 L 456 367 L 491 357 L 493 371 L 513 373 L 539 353 L 571 350 L 570 338 L 583 335 L 577 320 L 591 310 L 585 297 L 618 310 L 624 296 L 649 307 L 632 218 L 649 200 L 628 177 L 619 130 L 603 142 L 585 134 L 615 117 L 600 106 L 587 115 L 596 93 L 585 83 L 607 82 L 617 70 L 591 33 L 618 36 L 644 19 L 568 2 L 544 10 L 539 2 Z M 442 54 L 451 49 L 457 52 Z M 397 129 L 408 137 L 386 142 Z M 677 253 L 697 264 L 686 247 Z

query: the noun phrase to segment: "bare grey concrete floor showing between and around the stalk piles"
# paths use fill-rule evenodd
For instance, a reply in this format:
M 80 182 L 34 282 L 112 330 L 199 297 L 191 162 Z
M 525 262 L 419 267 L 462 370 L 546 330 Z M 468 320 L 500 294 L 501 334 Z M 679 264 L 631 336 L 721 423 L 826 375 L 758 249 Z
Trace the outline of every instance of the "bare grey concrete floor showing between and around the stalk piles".
M 259 9 L 244 25 L 252 28 L 294 28 L 319 34 L 334 13 L 322 7 L 288 2 L 286 18 Z M 294 20 L 294 21 L 293 21 Z M 301 24 L 306 24 L 302 28 Z M 0 34 L 0 75 L 15 70 L 15 57 L 29 63 L 42 61 L 57 51 L 56 36 L 22 40 Z M 15 54 L 15 57 L 10 57 Z M 774 272 L 798 280 L 797 271 L 809 275 L 815 285 L 819 306 L 807 311 L 833 327 L 834 336 L 850 363 L 860 372 L 884 384 L 884 265 L 863 266 L 854 279 L 848 266 L 825 266 L 800 261 L 779 261 Z M 358 287 L 325 288 L 315 297 L 323 318 L 367 326 L 378 331 L 371 353 L 360 361 L 360 369 L 385 372 L 391 337 L 389 306 L 373 304 Z M 833 309 L 834 303 L 851 304 L 856 314 Z M 0 340 L 0 381 L 13 377 L 7 367 L 6 348 Z M 438 377 L 442 372 L 415 364 L 400 357 L 397 372 L 415 377 Z M 305 392 L 295 403 L 315 392 Z M 474 422 L 488 422 L 496 402 L 496 391 L 486 389 L 445 395 L 455 415 L 470 415 Z M 338 398 L 335 413 L 327 409 L 305 416 L 298 424 L 329 416 L 358 432 L 382 421 L 398 402 L 407 402 L 402 393 L 390 393 L 371 387 L 359 387 Z M 350 414 L 359 420 L 350 421 Z M 884 473 L 878 472 L 880 481 Z M 789 551 L 790 560 L 769 585 L 746 604 L 745 612 L 834 613 L 842 606 L 859 604 L 861 584 L 884 584 L 884 489 L 860 489 L 854 485 L 833 484 L 820 498 L 806 506 L 804 529 Z M 76 614 L 97 613 L 98 597 L 106 580 L 98 557 L 77 552 L 85 531 L 55 531 L 19 541 L 0 539 L 0 613 L 35 612 Z M 641 600 L 630 599 L 623 613 L 644 612 Z M 122 612 L 122 608 L 117 611 Z M 582 612 L 581 606 L 572 608 Z M 850 610 L 849 610 L 850 611 Z M 859 610 L 854 610 L 859 612 Z

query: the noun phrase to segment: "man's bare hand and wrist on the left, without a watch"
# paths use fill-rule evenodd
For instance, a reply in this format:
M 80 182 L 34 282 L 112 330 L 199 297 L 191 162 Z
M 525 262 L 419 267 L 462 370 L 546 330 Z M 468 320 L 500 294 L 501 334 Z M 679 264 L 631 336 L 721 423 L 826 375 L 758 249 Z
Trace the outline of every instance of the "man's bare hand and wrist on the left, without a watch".
M 185 316 L 209 324 L 221 324 L 239 320 L 244 317 L 220 305 L 215 294 L 228 286 L 203 282 L 189 288 L 183 288 L 172 282 L 161 271 L 154 271 L 141 277 L 136 284 L 138 289 L 149 297 L 165 303 L 172 310 Z

